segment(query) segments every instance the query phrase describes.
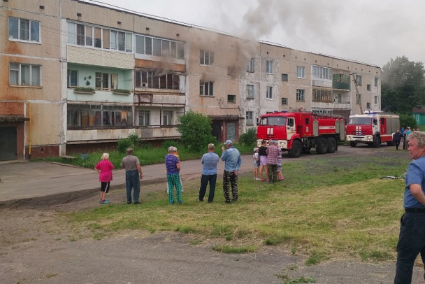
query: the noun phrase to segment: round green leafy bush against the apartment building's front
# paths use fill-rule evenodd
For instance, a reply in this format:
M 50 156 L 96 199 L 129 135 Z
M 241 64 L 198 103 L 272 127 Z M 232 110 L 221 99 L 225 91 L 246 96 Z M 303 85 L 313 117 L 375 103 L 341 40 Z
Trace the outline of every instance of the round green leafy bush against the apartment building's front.
M 188 111 L 178 118 L 178 132 L 182 134 L 180 141 L 192 152 L 206 149 L 208 143 L 216 143 L 212 136 L 212 120 L 201 113 Z

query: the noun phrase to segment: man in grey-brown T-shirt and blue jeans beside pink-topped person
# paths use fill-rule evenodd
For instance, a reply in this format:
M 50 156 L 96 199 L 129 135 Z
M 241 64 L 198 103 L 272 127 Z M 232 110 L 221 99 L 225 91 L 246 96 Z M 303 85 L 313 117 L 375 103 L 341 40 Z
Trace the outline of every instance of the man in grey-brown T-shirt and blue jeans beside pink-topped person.
M 127 193 L 127 204 L 131 204 L 131 189 L 133 189 L 134 204 L 140 204 L 138 197 L 141 193 L 141 182 L 143 178 L 141 162 L 134 155 L 133 148 L 127 148 L 127 156 L 122 159 L 122 168 L 125 169 L 125 188 Z

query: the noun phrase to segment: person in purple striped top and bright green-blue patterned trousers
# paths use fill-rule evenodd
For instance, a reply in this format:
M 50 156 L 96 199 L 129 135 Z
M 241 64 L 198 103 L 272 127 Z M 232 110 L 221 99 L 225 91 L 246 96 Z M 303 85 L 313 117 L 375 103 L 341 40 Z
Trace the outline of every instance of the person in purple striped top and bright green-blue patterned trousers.
M 180 161 L 178 157 L 174 155 L 177 148 L 170 146 L 168 147 L 168 154 L 165 155 L 165 167 L 167 171 L 167 183 L 168 183 L 168 202 L 174 204 L 174 187 L 176 192 L 177 203 L 183 203 L 182 201 L 182 183 L 180 183 Z

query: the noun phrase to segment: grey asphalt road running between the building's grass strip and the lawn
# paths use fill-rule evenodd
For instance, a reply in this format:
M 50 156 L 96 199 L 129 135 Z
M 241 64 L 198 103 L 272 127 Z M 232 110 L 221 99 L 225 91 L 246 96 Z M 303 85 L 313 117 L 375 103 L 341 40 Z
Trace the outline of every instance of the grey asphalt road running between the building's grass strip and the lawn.
M 382 145 L 382 147 L 387 147 Z M 355 148 L 340 146 L 333 156 L 353 155 L 356 152 L 373 151 L 366 145 L 358 145 Z M 298 159 L 291 159 L 284 155 L 282 162 L 301 159 L 312 159 L 317 157 L 315 151 L 303 154 Z M 201 159 L 183 161 L 181 163 L 180 175 L 182 179 L 201 176 Z M 224 169 L 224 162 L 221 160 L 217 165 L 219 175 Z M 166 180 L 165 165 L 154 164 L 143 166 L 142 186 L 150 183 L 159 183 Z M 247 173 L 253 170 L 252 156 L 242 156 L 242 166 L 240 173 Z M 125 186 L 125 171 L 115 169 L 113 171 L 113 181 L 111 187 Z M 0 201 L 14 199 L 27 199 L 32 197 L 43 197 L 50 194 L 65 192 L 76 192 L 81 190 L 94 190 L 100 188 L 99 173 L 94 169 L 82 169 L 75 166 L 55 164 L 50 162 L 1 162 L 0 163 Z

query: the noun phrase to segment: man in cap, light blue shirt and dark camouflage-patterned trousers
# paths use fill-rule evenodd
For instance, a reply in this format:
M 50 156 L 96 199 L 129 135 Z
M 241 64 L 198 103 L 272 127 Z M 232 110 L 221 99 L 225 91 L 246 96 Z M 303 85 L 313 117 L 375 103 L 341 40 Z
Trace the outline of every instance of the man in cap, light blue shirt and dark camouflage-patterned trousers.
M 222 146 L 222 161 L 224 161 L 223 192 L 226 203 L 230 203 L 229 185 L 231 185 L 232 200 L 238 200 L 238 171 L 242 164 L 242 158 L 231 140 L 227 140 L 224 144 L 227 150 Z

